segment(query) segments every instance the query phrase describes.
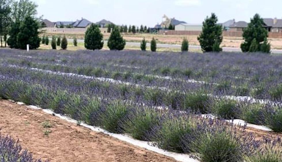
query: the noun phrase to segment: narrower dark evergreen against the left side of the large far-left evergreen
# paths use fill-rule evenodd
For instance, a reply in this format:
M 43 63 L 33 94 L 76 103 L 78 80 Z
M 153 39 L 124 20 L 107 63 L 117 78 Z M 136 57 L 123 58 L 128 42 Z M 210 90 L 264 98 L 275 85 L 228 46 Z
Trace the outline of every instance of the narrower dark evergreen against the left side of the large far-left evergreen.
M 20 21 L 16 20 L 12 23 L 11 29 L 9 31 L 10 37 L 7 40 L 8 45 L 10 48 L 18 48 L 18 33 L 20 32 Z

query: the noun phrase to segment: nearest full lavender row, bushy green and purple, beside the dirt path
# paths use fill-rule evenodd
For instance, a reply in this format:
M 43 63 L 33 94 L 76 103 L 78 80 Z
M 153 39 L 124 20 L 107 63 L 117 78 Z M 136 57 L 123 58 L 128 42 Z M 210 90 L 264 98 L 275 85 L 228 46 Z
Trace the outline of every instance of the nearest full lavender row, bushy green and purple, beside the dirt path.
M 2 71 L 8 70 L 2 68 Z M 50 108 L 113 133 L 127 133 L 139 140 L 154 141 L 152 145 L 169 151 L 189 153 L 204 162 L 265 159 L 279 162 L 282 157 L 280 138 L 256 140 L 244 128 L 221 120 L 198 118 L 190 112 L 149 108 L 121 99 L 89 96 L 84 92 L 88 87 L 84 88 L 79 78 L 71 80 L 30 71 L 27 77 L 23 69 L 19 70 L 21 74 L 17 71 L 1 73 L 1 98 Z M 62 86 L 64 83 L 72 86 L 63 89 L 67 87 L 67 84 Z M 80 90 L 75 83 L 81 85 L 77 86 Z

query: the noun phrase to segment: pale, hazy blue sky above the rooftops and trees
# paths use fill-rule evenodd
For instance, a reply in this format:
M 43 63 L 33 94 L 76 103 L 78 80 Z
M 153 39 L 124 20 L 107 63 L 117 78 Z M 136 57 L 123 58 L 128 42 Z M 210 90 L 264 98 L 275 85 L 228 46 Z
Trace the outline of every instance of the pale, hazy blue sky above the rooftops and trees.
M 263 18 L 282 18 L 281 0 L 32 0 L 38 16 L 52 22 L 86 18 L 102 19 L 116 25 L 154 27 L 162 16 L 200 24 L 214 12 L 219 22 L 230 19 L 247 21 L 255 14 Z

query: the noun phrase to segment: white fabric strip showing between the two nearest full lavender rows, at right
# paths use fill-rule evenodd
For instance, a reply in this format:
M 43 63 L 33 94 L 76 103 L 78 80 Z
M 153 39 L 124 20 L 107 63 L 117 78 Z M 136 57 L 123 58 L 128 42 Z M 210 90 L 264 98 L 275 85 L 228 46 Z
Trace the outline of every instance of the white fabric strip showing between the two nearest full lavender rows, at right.
M 214 119 L 215 116 L 213 114 L 202 114 L 202 117 L 204 118 L 212 118 Z M 251 128 L 255 128 L 258 130 L 262 130 L 262 131 L 272 131 L 270 128 L 265 127 L 263 125 L 255 125 L 255 124 L 250 124 L 245 122 L 244 120 L 241 119 L 234 119 L 234 120 L 225 120 L 228 123 L 233 123 L 234 125 L 241 125 L 244 126 L 246 124 L 247 127 L 251 127 Z

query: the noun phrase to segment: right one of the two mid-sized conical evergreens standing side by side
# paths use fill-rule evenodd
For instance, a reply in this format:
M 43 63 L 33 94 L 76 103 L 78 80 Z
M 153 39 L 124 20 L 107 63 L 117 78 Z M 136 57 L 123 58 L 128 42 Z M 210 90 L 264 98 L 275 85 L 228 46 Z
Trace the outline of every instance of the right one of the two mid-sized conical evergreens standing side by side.
M 123 50 L 125 47 L 125 40 L 120 35 L 118 27 L 114 27 L 108 40 L 108 47 L 110 50 Z

